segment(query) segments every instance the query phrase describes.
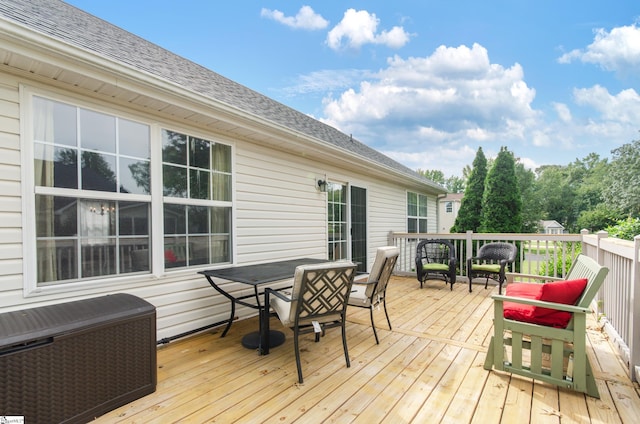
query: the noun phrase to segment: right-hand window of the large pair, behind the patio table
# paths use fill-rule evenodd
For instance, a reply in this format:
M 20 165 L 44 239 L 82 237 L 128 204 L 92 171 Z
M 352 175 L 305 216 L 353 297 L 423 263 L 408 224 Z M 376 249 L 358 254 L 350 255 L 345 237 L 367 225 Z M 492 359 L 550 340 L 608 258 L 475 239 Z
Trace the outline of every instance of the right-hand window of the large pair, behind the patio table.
M 231 147 L 162 130 L 166 268 L 231 259 Z

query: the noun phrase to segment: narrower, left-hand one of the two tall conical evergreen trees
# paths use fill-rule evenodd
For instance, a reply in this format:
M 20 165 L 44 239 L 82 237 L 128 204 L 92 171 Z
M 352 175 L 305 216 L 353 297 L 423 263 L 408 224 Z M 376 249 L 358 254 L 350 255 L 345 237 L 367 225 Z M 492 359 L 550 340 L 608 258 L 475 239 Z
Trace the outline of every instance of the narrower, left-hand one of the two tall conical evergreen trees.
M 477 232 L 480 228 L 482 197 L 486 177 L 487 158 L 484 156 L 482 147 L 479 147 L 473 160 L 473 169 L 469 175 L 464 196 L 462 197 L 460 211 L 458 211 L 456 221 L 451 227 L 452 233 L 464 233 L 469 230 Z

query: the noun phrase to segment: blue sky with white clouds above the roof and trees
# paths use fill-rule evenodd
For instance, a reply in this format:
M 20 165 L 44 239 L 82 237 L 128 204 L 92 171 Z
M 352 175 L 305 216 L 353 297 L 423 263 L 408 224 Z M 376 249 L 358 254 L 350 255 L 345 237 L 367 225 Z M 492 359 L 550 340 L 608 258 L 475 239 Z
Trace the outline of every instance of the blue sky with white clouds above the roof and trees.
M 528 167 L 640 139 L 637 0 L 68 3 L 412 169 Z

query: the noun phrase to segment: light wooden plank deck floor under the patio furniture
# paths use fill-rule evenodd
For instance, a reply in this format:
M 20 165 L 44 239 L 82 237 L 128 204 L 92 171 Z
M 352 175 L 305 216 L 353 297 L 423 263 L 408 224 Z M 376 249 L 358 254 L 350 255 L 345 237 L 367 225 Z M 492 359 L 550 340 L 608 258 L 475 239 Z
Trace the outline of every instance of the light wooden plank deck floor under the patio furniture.
M 483 369 L 492 329 L 490 294 L 441 281 L 423 288 L 393 277 L 388 309 L 376 311 L 380 345 L 368 311 L 349 311 L 346 368 L 340 330 L 320 343 L 301 343 L 304 384 L 297 384 L 293 339 L 259 356 L 240 345 L 257 319 L 233 324 L 158 349 L 155 393 L 116 409 L 96 423 L 636 423 L 638 387 L 595 320 L 589 356 L 601 399 Z M 276 318 L 274 329 L 281 326 Z

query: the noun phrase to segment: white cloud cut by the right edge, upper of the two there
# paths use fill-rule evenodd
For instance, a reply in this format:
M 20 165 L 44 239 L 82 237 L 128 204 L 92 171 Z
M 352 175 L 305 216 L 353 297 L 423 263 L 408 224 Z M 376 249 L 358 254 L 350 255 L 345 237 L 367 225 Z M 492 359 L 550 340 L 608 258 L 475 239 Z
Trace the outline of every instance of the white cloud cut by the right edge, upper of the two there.
M 600 65 L 607 71 L 630 75 L 640 71 L 640 28 L 629 25 L 613 28 L 611 32 L 598 29 L 593 43 L 585 50 L 576 49 L 562 55 L 558 62 L 580 60 Z

